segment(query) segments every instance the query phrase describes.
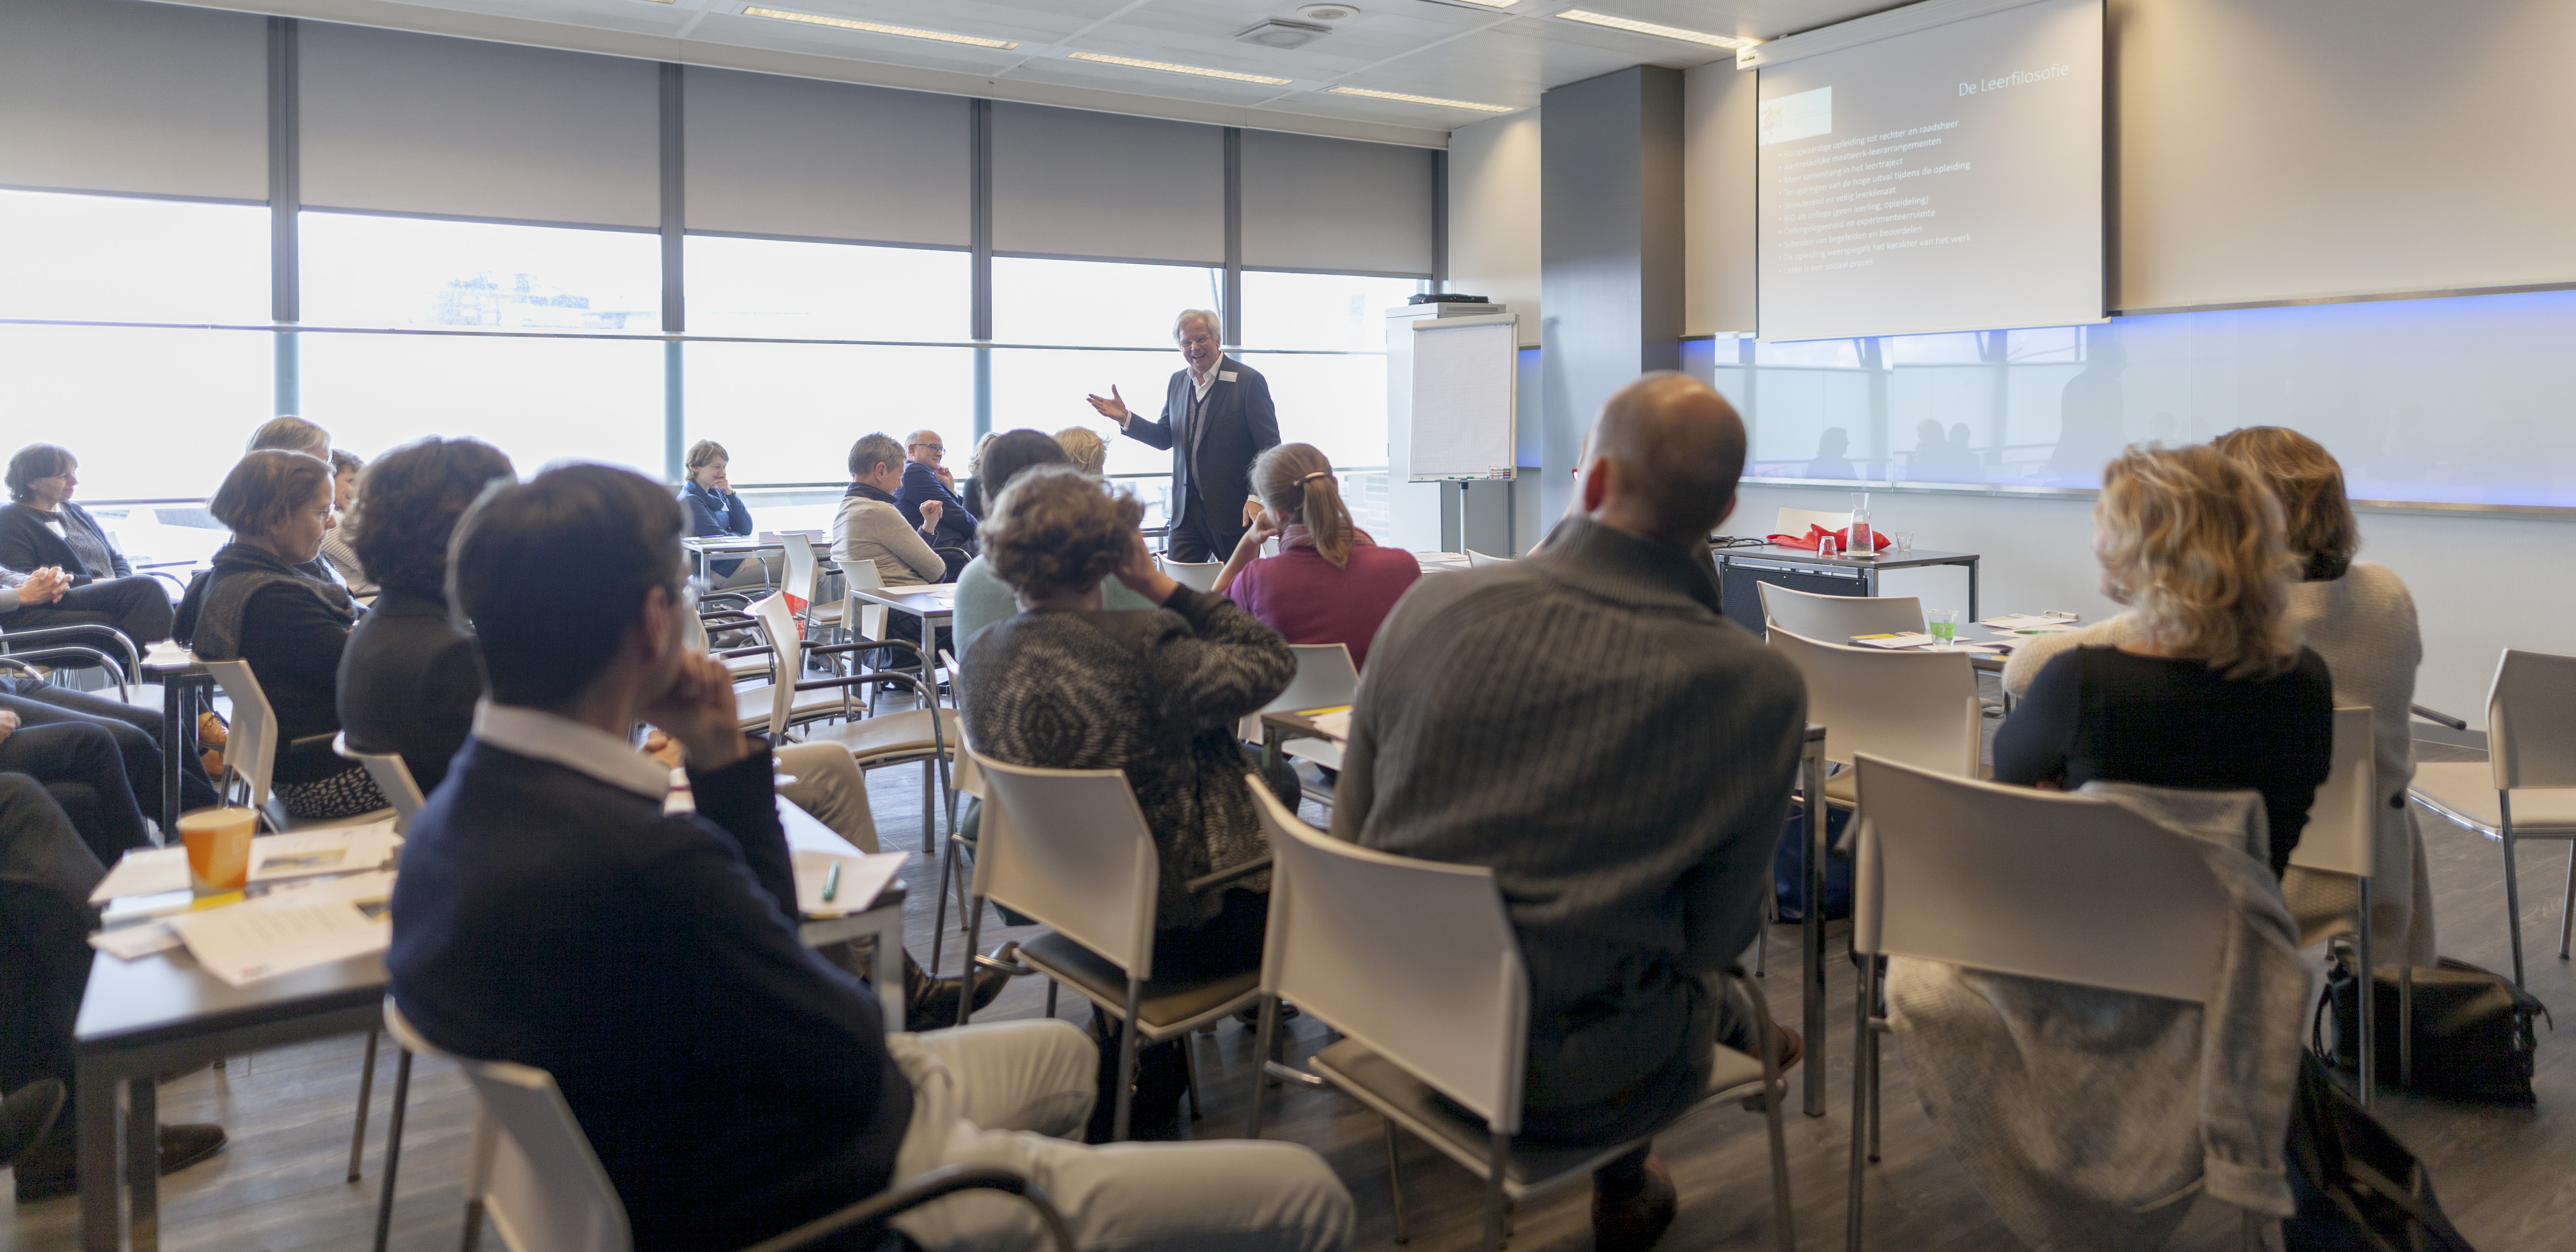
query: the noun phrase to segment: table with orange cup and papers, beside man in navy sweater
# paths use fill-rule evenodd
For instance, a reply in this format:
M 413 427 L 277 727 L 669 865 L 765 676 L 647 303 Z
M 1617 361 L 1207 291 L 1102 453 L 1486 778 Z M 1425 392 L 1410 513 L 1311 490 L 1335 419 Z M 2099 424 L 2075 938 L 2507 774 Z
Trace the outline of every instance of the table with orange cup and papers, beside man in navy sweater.
M 837 832 L 811 814 L 778 801 L 788 850 L 855 855 Z M 904 884 L 894 881 L 860 912 L 811 917 L 799 927 L 809 948 L 871 938 L 868 982 L 884 1005 L 904 1002 Z M 72 1028 L 77 1074 L 72 1115 L 80 1118 L 80 1247 L 116 1252 L 118 1226 L 134 1252 L 160 1247 L 160 1110 L 157 1074 L 188 1072 L 258 1048 L 358 1036 L 384 1025 L 384 953 L 350 956 L 232 987 L 188 953 L 170 948 L 134 961 L 98 953 Z M 374 1056 L 374 1054 L 371 1054 Z M 374 1067 L 368 1072 L 374 1077 Z M 124 1146 L 118 1146 L 118 1092 L 124 1092 Z M 397 1097 L 399 1100 L 399 1097 Z M 363 1108 L 363 1095 L 361 1095 Z M 386 1146 L 379 1247 L 394 1172 L 399 1167 L 399 1110 Z M 121 1175 L 121 1177 L 118 1177 Z M 129 1193 L 129 1221 L 118 1221 L 118 1180 Z

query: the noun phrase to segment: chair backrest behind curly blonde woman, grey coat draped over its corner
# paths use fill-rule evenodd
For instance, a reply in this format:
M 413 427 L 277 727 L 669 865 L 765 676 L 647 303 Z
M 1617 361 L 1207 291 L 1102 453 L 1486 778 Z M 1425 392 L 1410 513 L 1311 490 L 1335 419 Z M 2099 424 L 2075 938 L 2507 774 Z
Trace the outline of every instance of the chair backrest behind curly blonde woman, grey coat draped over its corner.
M 1860 806 L 1855 953 L 2210 1000 L 2233 904 L 2190 835 L 1878 757 L 1860 757 Z

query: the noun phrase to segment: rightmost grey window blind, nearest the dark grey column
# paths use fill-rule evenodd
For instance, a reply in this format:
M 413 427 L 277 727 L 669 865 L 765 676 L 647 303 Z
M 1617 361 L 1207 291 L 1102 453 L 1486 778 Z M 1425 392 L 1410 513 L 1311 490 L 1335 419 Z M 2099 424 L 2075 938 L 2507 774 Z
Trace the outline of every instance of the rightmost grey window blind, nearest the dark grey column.
M 1244 131 L 1244 265 L 1430 276 L 1430 149 Z

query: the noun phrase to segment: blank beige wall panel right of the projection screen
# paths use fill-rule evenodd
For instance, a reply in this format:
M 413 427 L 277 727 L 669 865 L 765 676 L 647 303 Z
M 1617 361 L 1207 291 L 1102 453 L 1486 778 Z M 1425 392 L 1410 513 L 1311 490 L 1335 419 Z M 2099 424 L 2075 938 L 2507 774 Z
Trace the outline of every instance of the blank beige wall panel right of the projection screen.
M 2576 281 L 2576 5 L 2112 0 L 2120 309 Z

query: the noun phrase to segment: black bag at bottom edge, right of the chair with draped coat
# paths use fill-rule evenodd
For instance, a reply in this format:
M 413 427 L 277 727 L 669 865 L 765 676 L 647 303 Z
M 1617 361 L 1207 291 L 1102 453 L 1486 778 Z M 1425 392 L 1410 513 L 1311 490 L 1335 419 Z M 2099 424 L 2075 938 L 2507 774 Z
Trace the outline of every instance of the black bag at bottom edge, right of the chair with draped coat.
M 2290 1249 L 2476 1252 L 2432 1195 L 2432 1175 L 2362 1110 L 2313 1051 L 2298 1059 L 2290 1100 Z

